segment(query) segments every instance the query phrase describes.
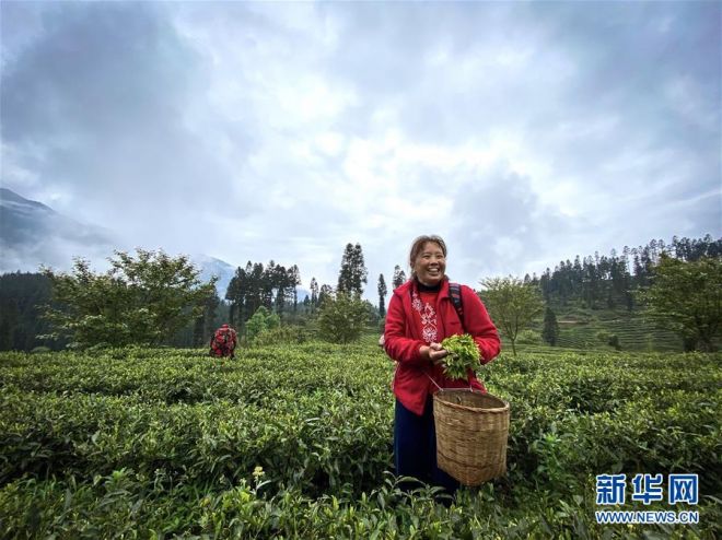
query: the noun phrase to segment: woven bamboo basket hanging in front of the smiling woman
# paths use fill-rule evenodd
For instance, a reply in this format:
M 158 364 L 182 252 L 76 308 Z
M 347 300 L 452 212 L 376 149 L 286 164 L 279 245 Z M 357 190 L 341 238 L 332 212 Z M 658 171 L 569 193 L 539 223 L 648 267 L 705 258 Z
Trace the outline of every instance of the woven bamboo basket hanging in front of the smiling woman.
M 506 473 L 509 403 L 468 388 L 433 396 L 436 465 L 465 485 Z

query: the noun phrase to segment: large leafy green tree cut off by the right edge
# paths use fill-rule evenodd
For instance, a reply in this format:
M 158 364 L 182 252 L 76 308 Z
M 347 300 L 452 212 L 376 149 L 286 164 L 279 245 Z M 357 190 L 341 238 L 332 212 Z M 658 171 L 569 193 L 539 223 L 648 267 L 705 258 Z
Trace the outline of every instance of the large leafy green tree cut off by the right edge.
M 722 336 L 722 256 L 683 261 L 662 257 L 640 292 L 647 314 L 679 333 L 690 349 L 714 351 Z

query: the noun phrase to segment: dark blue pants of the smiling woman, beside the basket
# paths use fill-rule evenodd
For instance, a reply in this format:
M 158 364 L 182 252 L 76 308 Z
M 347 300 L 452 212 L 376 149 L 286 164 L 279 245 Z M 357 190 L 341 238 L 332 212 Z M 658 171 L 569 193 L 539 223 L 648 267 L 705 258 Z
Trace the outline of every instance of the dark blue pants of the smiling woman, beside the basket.
M 433 400 L 429 396 L 421 416 L 396 400 L 394 416 L 394 465 L 399 477 L 445 488 L 454 494 L 458 482 L 436 467 L 436 432 L 433 423 Z

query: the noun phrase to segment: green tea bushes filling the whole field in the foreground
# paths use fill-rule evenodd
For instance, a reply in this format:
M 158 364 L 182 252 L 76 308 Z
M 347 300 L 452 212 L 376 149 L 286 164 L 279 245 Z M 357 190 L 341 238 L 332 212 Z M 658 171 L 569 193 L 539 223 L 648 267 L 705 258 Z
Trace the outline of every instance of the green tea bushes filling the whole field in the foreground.
M 447 501 L 393 476 L 373 344 L 0 353 L 0 537 L 717 538 L 721 355 L 539 350 L 481 377 L 509 474 Z M 699 474 L 696 525 L 597 525 L 595 476 Z M 445 503 L 445 504 L 444 504 Z

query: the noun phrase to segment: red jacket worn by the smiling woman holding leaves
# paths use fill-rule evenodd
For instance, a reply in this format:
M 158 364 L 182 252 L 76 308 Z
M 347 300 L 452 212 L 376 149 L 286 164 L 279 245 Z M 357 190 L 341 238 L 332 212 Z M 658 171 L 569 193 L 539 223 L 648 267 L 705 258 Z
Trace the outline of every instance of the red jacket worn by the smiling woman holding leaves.
M 386 313 L 384 350 L 398 362 L 394 374 L 394 394 L 404 407 L 421 415 L 427 397 L 439 389 L 431 378 L 442 388 L 463 388 L 468 383 L 447 379 L 441 366 L 421 359 L 419 348 L 429 343 L 421 338 L 421 325 L 412 313 L 411 292 L 414 290 L 416 290 L 416 282 L 409 280 L 396 289 L 392 295 Z M 470 287 L 462 285 L 461 293 L 464 308 L 463 322 L 449 295 L 449 280 L 444 279 L 436 296 L 435 306 L 438 341 L 441 342 L 454 334 L 469 333 L 479 348 L 479 361 L 481 364 L 486 364 L 491 362 L 501 350 L 497 327 L 489 318 L 481 300 Z M 484 385 L 475 376 L 471 376 L 470 383 L 474 388 L 486 391 Z

